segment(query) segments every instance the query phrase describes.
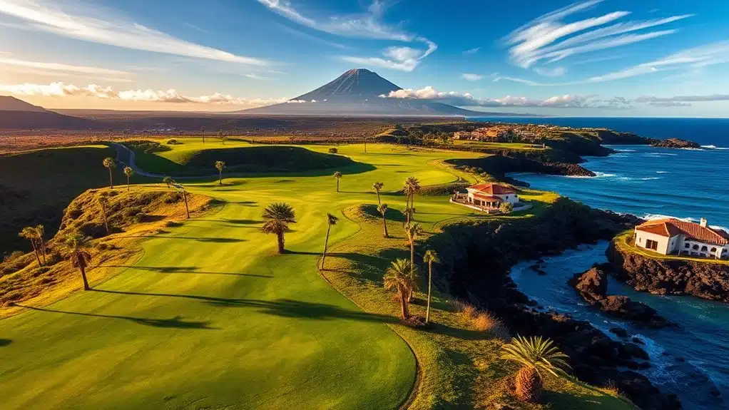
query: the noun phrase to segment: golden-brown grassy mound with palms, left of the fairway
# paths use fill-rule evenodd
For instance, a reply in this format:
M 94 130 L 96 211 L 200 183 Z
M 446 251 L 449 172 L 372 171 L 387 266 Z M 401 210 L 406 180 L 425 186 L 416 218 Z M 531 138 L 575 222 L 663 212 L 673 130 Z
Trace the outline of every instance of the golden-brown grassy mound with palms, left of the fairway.
M 99 198 L 106 197 L 109 206 L 104 216 Z M 190 211 L 200 213 L 211 206 L 209 197 L 190 194 Z M 0 263 L 0 316 L 15 311 L 10 305 L 42 296 L 44 302 L 58 299 L 79 286 L 77 270 L 65 258 L 63 240 L 80 232 L 90 241 L 91 267 L 123 261 L 138 251 L 130 237 L 141 237 L 160 231 L 168 224 L 185 218 L 182 194 L 178 192 L 91 189 L 79 195 L 63 213 L 61 229 L 47 243 L 46 263 L 39 266 L 34 253 L 13 253 Z M 104 269 L 101 269 L 103 271 Z M 107 272 L 90 269 L 90 278 L 98 280 Z

